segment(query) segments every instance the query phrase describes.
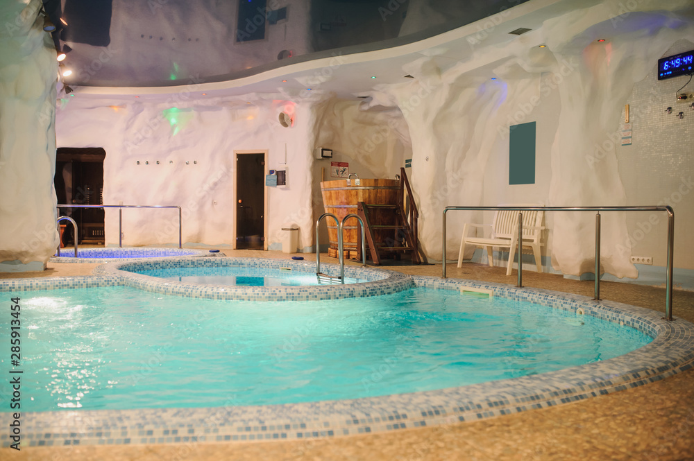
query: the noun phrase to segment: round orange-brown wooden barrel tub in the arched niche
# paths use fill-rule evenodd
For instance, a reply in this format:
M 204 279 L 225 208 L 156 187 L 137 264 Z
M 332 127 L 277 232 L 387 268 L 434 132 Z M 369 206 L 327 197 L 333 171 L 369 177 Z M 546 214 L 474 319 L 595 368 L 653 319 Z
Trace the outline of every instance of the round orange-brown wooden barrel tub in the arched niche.
M 342 222 L 342 219 L 348 214 L 357 214 L 358 202 L 364 202 L 367 205 L 398 205 L 400 181 L 360 179 L 359 186 L 355 185 L 355 180 L 352 180 L 350 186 L 347 185 L 346 180 L 323 181 L 321 182 L 321 193 L 323 193 L 325 213 L 334 214 Z M 369 218 L 372 225 L 390 224 L 382 222 L 383 218 L 378 213 L 372 214 Z M 337 225 L 332 218 L 325 218 L 325 223 L 328 224 L 330 255 L 337 256 Z M 343 237 L 345 257 L 357 258 L 357 235 L 359 232 L 361 230 L 356 218 L 351 218 L 345 222 Z M 376 245 L 379 243 L 386 245 L 387 239 L 391 238 L 393 238 L 392 230 L 376 230 L 374 232 Z

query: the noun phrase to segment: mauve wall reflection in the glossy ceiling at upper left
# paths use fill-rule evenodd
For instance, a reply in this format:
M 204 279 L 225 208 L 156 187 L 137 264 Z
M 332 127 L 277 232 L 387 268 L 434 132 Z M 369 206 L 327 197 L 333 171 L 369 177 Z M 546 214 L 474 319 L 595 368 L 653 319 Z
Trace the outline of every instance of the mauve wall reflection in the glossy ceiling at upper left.
M 251 18 L 253 24 L 237 28 L 237 1 L 114 0 L 110 29 L 119 33 L 112 34 L 108 46 L 68 42 L 84 57 L 73 58 L 76 73 L 69 81 L 88 84 L 167 80 L 169 76 L 185 81 L 276 62 L 285 49 L 295 55 L 310 52 L 309 2 L 268 0 L 266 8 L 285 6 L 287 19 L 266 23 L 264 40 L 237 42 L 237 36 L 245 36 L 265 21 L 258 12 Z

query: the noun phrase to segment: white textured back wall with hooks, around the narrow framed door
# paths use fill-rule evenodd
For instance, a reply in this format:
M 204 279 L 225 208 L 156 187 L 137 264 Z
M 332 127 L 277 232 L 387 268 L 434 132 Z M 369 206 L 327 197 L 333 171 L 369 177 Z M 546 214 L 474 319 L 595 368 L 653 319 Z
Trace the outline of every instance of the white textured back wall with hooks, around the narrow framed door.
M 309 247 L 310 103 L 183 95 L 176 103 L 63 100 L 56 117 L 58 146 L 105 149 L 106 205 L 180 205 L 184 244 L 233 246 L 234 151 L 268 150 L 268 169 L 284 169 L 286 143 L 287 186 L 266 187 L 266 238 L 269 247 L 277 247 L 281 227 L 291 223 L 301 229 L 299 247 Z M 291 128 L 278 122 L 281 111 L 293 114 Z M 178 243 L 176 210 L 124 209 L 123 215 L 124 245 Z M 105 221 L 106 244 L 117 245 L 117 211 L 106 211 Z

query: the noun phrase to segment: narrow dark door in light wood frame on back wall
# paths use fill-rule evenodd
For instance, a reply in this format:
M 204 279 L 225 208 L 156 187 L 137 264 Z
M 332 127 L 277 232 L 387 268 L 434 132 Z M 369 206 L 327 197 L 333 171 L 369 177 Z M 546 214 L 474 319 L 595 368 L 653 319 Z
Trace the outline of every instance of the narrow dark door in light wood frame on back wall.
M 235 150 L 237 250 L 267 250 L 266 150 Z

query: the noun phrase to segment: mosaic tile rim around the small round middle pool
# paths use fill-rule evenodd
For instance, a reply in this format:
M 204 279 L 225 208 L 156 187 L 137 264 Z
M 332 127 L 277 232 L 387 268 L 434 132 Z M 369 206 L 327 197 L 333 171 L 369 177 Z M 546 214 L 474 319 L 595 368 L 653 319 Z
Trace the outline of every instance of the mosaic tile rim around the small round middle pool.
M 164 295 L 203 297 L 209 299 L 237 299 L 242 301 L 318 301 L 347 297 L 369 297 L 389 295 L 412 288 L 412 279 L 400 272 L 345 266 L 344 274 L 353 279 L 367 280 L 360 284 L 336 284 L 316 286 L 229 286 L 190 284 L 169 281 L 130 271 L 189 268 L 189 267 L 244 267 L 259 270 L 291 269 L 315 274 L 316 263 L 310 261 L 289 261 L 285 259 L 257 258 L 214 258 L 189 259 L 167 258 L 135 262 L 109 263 L 94 270 L 95 275 L 116 277 L 122 284 L 141 290 Z M 339 275 L 337 264 L 321 264 L 321 272 L 326 275 Z

